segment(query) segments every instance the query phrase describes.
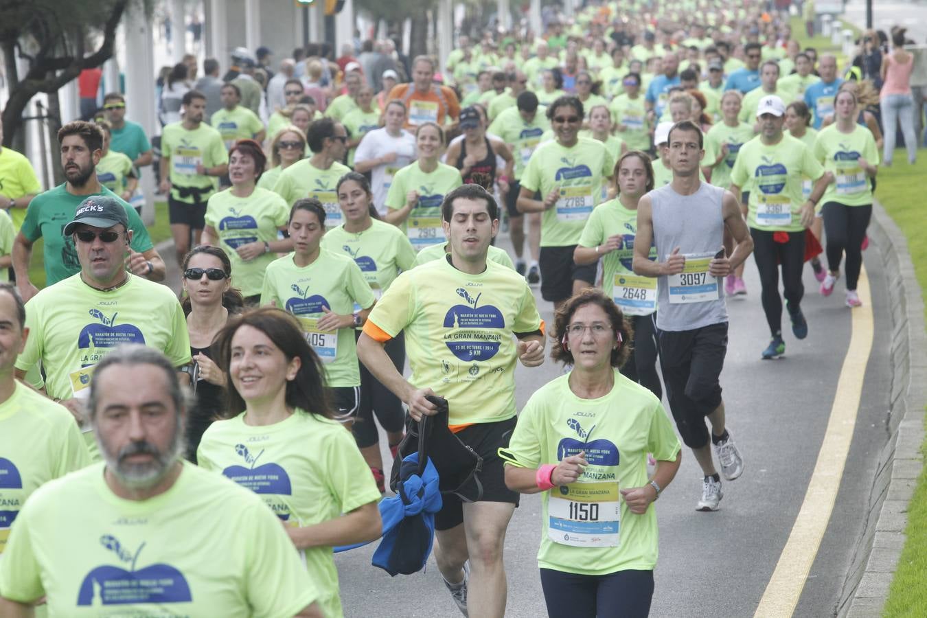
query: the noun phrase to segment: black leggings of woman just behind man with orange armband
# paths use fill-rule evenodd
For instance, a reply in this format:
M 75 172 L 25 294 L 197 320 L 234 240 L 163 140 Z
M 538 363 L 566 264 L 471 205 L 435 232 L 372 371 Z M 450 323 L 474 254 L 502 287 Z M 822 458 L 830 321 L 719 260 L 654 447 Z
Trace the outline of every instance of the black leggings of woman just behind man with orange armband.
M 396 335 L 387 341 L 384 349 L 397 371 L 401 373 L 405 365 L 405 336 L 402 333 Z M 361 368 L 361 401 L 356 422 L 351 426 L 351 432 L 354 434 L 358 448 L 367 448 L 373 447 L 380 441 L 380 435 L 374 423 L 374 413 L 376 413 L 376 420 L 387 432 L 391 433 L 402 431 L 405 415 L 400 398 L 393 395 L 386 386 L 381 385 L 360 360 L 358 360 L 358 365 Z

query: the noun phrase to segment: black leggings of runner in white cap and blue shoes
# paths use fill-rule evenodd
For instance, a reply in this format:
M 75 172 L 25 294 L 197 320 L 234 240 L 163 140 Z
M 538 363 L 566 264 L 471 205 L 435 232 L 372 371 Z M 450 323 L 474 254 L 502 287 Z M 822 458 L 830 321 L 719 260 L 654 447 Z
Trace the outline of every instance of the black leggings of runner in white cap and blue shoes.
M 777 336 L 782 332 L 782 299 L 779 296 L 779 265 L 782 267 L 782 287 L 789 310 L 799 309 L 805 285 L 802 284 L 802 267 L 805 264 L 805 231 L 788 232 L 789 242 L 777 243 L 774 232 L 750 228 L 754 239 L 754 260 L 763 287 L 763 311 L 769 332 Z

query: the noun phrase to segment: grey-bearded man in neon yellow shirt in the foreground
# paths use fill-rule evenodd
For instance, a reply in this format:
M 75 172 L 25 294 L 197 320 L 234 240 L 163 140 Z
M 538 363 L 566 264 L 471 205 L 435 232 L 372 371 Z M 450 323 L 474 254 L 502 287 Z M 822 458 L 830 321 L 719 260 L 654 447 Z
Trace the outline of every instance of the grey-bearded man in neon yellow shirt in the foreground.
M 0 561 L 6 611 L 31 615 L 44 597 L 53 616 L 322 616 L 272 511 L 181 460 L 171 361 L 126 346 L 99 370 L 91 419 L 106 462 L 45 484 L 19 513 Z M 203 517 L 217 505 L 222 517 Z

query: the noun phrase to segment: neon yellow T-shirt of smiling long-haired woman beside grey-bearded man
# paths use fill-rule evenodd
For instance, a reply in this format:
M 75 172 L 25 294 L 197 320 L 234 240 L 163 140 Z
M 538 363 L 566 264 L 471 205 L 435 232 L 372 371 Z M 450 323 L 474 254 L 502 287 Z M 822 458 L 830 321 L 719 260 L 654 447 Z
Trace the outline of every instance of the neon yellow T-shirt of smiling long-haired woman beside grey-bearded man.
M 257 493 L 286 525 L 327 522 L 380 499 L 350 432 L 304 410 L 271 425 L 249 425 L 245 412 L 212 423 L 197 461 Z M 332 548 L 300 553 L 324 615 L 343 615 Z

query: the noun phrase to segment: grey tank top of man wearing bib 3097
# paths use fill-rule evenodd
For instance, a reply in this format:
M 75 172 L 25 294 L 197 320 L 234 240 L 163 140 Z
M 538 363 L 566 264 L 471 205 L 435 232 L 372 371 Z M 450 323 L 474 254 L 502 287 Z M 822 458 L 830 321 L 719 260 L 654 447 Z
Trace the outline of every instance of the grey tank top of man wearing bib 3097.
M 654 189 L 654 245 L 660 261 L 677 246 L 680 254 L 711 254 L 724 246 L 721 198 L 724 189 L 702 183 L 692 195 L 679 195 L 672 184 Z M 705 275 L 705 283 L 717 282 L 717 297 L 701 302 L 670 303 L 669 277 L 660 277 L 657 288 L 656 326 L 664 331 L 691 331 L 728 321 L 723 279 Z

